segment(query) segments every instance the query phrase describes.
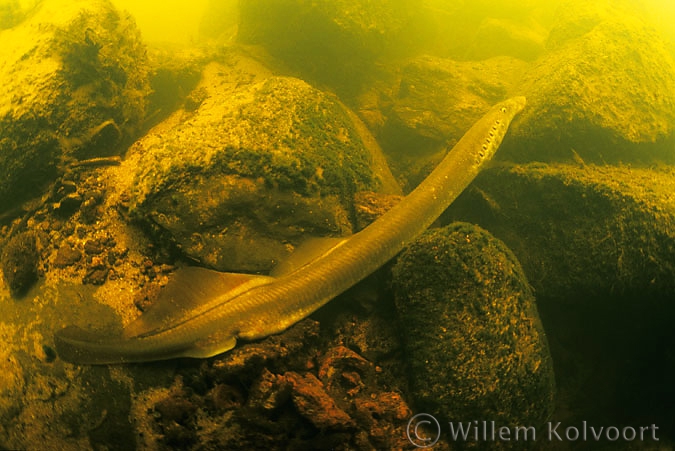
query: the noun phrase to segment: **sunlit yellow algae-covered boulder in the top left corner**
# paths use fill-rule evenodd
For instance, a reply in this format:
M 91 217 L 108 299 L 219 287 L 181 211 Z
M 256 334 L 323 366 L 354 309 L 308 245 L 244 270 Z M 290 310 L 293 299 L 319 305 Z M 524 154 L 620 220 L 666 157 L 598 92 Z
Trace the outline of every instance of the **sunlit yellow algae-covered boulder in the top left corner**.
M 105 0 L 46 0 L 0 34 L 0 211 L 35 196 L 64 161 L 115 152 L 148 92 L 133 19 Z

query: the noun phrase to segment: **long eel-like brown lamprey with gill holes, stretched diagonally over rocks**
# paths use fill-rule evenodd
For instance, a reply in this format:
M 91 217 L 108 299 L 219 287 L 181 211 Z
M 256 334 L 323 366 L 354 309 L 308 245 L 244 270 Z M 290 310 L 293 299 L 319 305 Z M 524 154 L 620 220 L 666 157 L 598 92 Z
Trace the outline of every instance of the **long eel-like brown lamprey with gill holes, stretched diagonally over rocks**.
M 239 338 L 283 331 L 378 269 L 429 227 L 492 158 L 524 107 L 524 97 L 495 105 L 398 205 L 361 232 L 320 247 L 305 264 L 275 277 L 184 268 L 121 336 L 75 326 L 58 331 L 59 356 L 83 364 L 210 357 L 232 349 Z

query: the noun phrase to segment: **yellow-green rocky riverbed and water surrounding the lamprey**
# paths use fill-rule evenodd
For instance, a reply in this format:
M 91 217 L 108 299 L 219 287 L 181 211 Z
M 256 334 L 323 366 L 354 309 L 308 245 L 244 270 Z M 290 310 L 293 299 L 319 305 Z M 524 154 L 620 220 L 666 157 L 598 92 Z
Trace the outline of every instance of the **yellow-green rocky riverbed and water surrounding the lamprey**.
M 415 449 L 426 413 L 433 449 L 672 449 L 673 20 L 637 0 L 0 0 L 0 448 Z M 363 230 L 514 96 L 434 227 L 281 334 L 59 356 L 56 331 L 119 333 L 179 268 L 268 274 Z

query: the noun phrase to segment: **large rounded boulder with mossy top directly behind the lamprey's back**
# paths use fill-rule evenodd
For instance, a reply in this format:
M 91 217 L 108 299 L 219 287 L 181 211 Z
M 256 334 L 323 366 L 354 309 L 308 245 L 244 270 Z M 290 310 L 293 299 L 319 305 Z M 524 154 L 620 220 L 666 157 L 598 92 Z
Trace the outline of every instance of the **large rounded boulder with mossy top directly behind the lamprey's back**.
M 309 236 L 350 233 L 356 192 L 399 189 L 333 96 L 284 77 L 236 87 L 225 72 L 207 66 L 199 106 L 130 150 L 131 213 L 160 241 L 212 268 L 267 271 Z

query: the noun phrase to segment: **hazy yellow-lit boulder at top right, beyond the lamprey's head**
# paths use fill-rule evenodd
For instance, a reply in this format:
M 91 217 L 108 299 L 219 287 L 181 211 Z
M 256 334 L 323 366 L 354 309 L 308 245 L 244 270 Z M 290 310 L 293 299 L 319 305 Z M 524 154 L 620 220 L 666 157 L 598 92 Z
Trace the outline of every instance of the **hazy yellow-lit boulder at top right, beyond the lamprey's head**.
M 522 80 L 527 108 L 510 134 L 516 162 L 675 161 L 675 63 L 640 14 L 570 2 Z

